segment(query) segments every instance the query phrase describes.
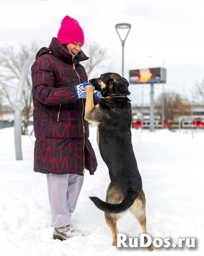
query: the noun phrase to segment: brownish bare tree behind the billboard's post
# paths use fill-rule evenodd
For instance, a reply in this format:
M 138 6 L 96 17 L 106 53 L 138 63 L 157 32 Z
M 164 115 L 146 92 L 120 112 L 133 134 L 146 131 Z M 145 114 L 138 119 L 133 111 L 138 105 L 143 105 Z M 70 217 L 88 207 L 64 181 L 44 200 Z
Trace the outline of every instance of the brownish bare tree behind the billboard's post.
M 156 100 L 162 103 L 162 93 Z M 159 110 L 158 110 L 158 114 Z M 175 121 L 179 116 L 190 115 L 190 102 L 175 92 L 164 92 L 164 122 Z

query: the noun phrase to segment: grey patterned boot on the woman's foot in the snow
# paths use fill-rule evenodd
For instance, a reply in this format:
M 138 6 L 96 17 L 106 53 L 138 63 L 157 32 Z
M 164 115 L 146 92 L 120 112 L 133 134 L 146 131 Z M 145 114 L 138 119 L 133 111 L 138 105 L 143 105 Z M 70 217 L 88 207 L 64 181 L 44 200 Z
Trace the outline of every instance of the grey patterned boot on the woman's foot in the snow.
M 65 227 L 57 227 L 54 229 L 53 239 L 59 239 L 63 241 L 73 236 L 82 236 L 82 234 L 77 232 L 73 227 L 71 227 L 71 225 Z

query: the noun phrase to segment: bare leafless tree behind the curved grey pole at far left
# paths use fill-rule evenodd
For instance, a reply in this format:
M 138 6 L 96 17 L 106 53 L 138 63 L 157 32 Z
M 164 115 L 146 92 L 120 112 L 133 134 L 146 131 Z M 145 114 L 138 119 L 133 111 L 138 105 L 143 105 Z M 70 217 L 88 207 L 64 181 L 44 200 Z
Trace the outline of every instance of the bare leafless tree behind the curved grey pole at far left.
M 20 79 L 23 65 L 26 60 L 37 52 L 40 47 L 36 42 L 29 46 L 21 45 L 19 49 L 13 46 L 0 48 L 0 95 L 4 105 L 12 106 Z M 22 111 L 22 134 L 28 133 L 28 121 L 32 116 L 32 82 L 31 71 L 28 71 L 25 86 L 23 88 L 24 109 Z

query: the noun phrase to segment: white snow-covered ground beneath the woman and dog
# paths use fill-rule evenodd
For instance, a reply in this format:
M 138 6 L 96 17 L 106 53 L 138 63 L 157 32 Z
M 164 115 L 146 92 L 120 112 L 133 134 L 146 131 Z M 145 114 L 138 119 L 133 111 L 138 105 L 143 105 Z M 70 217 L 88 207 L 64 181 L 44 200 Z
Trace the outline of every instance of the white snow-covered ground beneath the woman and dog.
M 34 141 L 34 137 L 31 138 Z M 0 256 L 122 256 L 203 255 L 204 243 L 204 131 L 192 139 L 190 131 L 132 130 L 132 143 L 146 196 L 147 231 L 152 238 L 195 237 L 196 248 L 115 248 L 104 213 L 88 196 L 105 200 L 108 169 L 90 140 L 99 167 L 85 172 L 85 182 L 73 214 L 73 226 L 84 236 L 52 239 L 45 175 L 33 172 L 33 143 L 22 137 L 23 161 L 15 160 L 14 128 L 0 129 Z M 139 237 L 136 219 L 127 213 L 118 222 L 120 233 Z

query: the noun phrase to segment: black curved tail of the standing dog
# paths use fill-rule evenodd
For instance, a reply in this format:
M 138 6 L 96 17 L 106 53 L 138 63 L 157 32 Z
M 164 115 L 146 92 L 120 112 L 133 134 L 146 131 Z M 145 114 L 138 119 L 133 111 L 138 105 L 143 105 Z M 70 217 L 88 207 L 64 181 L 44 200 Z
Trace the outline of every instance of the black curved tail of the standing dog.
M 123 198 L 120 204 L 110 204 L 107 202 L 102 201 L 101 199 L 90 196 L 89 198 L 91 201 L 94 202 L 96 207 L 106 213 L 122 213 L 125 212 L 130 206 L 134 203 L 135 199 L 138 197 L 139 193 L 135 191 L 127 191 L 125 192 L 125 197 Z

